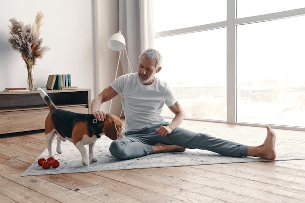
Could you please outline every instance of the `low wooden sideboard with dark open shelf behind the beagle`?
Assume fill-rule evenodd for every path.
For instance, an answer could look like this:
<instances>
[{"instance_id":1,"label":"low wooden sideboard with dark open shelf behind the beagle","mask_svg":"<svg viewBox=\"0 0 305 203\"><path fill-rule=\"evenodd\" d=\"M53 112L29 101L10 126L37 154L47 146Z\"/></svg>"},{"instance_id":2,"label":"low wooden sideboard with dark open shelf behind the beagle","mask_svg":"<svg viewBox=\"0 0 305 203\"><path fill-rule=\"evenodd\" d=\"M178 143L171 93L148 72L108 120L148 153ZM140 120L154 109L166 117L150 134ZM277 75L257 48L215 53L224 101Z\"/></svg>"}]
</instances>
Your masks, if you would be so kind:
<instances>
[{"instance_id":1,"label":"low wooden sideboard with dark open shelf behind the beagle","mask_svg":"<svg viewBox=\"0 0 305 203\"><path fill-rule=\"evenodd\" d=\"M91 89L45 90L57 108L88 114ZM44 129L49 108L38 91L0 91L0 134Z\"/></svg>"}]
</instances>

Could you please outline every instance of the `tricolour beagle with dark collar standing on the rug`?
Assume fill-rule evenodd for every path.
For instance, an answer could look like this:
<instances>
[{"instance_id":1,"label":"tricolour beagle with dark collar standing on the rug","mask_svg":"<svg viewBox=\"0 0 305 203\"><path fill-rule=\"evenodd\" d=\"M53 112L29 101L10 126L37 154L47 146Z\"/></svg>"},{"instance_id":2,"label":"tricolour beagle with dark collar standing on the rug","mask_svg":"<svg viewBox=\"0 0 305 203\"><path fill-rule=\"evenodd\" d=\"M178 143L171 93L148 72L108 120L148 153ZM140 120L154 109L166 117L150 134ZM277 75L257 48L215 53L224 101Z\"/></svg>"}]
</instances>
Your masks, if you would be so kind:
<instances>
[{"instance_id":1,"label":"tricolour beagle with dark collar standing on the rug","mask_svg":"<svg viewBox=\"0 0 305 203\"><path fill-rule=\"evenodd\" d=\"M45 91L38 88L38 92L50 109L44 124L49 157L56 158L52 151L52 140L56 134L56 151L60 154L61 141L69 140L79 150L81 163L85 166L89 166L89 162L96 162L93 150L97 138L104 134L116 140L122 139L127 134L121 120L114 114L107 114L104 121L98 121L91 114L78 114L57 109ZM89 157L84 145L89 145Z\"/></svg>"}]
</instances>

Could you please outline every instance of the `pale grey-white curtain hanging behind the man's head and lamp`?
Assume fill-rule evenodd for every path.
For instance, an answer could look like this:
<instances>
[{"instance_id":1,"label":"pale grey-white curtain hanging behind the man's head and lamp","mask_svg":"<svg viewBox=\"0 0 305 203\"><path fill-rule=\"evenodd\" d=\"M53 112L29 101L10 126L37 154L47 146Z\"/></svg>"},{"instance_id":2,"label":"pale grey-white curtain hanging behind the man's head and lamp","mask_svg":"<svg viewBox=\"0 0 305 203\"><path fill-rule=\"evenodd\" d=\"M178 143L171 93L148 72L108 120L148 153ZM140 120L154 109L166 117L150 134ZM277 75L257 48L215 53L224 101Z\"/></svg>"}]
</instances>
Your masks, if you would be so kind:
<instances>
[{"instance_id":1,"label":"pale grey-white curtain hanging behind the man's head and lamp","mask_svg":"<svg viewBox=\"0 0 305 203\"><path fill-rule=\"evenodd\" d=\"M125 37L126 50L133 72L138 69L139 55L153 47L152 0L119 0L119 31ZM127 73L127 58L121 57ZM130 71L129 71L130 72Z\"/></svg>"}]
</instances>

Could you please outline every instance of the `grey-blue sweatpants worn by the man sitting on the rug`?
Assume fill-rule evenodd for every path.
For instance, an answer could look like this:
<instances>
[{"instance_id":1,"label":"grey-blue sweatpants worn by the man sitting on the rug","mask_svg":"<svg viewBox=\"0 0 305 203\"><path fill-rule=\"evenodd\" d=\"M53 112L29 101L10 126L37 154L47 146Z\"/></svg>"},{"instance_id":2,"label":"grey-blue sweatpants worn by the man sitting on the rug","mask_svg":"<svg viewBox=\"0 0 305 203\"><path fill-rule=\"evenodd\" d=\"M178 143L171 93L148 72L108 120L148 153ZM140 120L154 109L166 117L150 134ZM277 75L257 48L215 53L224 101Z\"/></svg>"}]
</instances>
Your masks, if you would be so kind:
<instances>
[{"instance_id":1,"label":"grey-blue sweatpants worn by the man sitting on the rug","mask_svg":"<svg viewBox=\"0 0 305 203\"><path fill-rule=\"evenodd\" d=\"M152 145L161 142L189 149L209 150L226 156L247 156L248 146L246 145L207 134L195 133L180 127L174 129L171 134L165 137L161 137L154 132L161 125L167 126L168 124L168 122L165 122L138 131L129 131L123 139L113 141L109 150L116 158L131 159L152 154Z\"/></svg>"}]
</instances>

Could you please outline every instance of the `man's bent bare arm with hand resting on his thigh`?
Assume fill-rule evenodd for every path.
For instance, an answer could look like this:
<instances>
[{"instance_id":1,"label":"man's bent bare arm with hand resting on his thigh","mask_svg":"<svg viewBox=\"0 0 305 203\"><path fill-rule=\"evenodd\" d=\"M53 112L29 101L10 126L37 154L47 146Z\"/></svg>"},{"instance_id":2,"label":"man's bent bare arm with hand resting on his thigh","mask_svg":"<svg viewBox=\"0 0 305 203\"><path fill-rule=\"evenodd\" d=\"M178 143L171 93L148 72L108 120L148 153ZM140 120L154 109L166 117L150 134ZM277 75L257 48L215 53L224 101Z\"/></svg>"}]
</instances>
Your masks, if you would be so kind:
<instances>
[{"instance_id":1,"label":"man's bent bare arm with hand resting on his thigh","mask_svg":"<svg viewBox=\"0 0 305 203\"><path fill-rule=\"evenodd\" d=\"M172 131L178 127L183 119L185 118L185 113L178 101L172 106L169 107L172 113L175 114L172 122L168 126L160 126L155 132L160 136L165 137L167 134L171 134Z\"/></svg>"}]
</instances>

